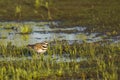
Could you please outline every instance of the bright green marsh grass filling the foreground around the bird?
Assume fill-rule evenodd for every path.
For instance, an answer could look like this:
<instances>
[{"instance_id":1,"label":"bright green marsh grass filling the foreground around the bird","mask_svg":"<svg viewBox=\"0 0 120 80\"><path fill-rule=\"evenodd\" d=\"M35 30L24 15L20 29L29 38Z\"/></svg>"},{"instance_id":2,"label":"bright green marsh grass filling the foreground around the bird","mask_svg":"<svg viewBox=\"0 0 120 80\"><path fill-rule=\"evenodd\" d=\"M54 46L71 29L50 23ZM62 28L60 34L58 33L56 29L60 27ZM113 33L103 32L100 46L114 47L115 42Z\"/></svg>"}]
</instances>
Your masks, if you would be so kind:
<instances>
[{"instance_id":1,"label":"bright green marsh grass filling the foreground around the bird","mask_svg":"<svg viewBox=\"0 0 120 80\"><path fill-rule=\"evenodd\" d=\"M51 43L46 52L49 55L44 59L44 54L36 55L26 47L15 47L10 43L0 45L0 54L3 58L27 57L32 59L0 61L0 79L2 80L46 80L46 79L104 79L118 80L120 75L120 47L101 45L99 43L72 44L67 42ZM81 62L56 62L52 54L62 56L70 54L70 58L87 58Z\"/></svg>"}]
</instances>

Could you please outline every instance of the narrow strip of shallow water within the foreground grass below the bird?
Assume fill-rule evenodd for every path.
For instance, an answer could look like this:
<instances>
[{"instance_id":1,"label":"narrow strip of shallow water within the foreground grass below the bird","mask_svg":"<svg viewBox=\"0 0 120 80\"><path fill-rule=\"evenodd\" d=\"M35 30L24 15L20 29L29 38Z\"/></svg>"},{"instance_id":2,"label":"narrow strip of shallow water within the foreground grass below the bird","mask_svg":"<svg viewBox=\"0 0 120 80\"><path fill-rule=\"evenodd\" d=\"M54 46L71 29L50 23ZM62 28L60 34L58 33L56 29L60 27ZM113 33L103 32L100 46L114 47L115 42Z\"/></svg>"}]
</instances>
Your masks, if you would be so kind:
<instances>
[{"instance_id":1,"label":"narrow strip of shallow water within the foreground grass below the bird","mask_svg":"<svg viewBox=\"0 0 120 80\"><path fill-rule=\"evenodd\" d=\"M51 61L51 62L56 62L56 63L61 63L61 62L80 62L80 61L85 61L87 60L86 58L69 58L65 56L60 56L60 55L42 55L42 56L36 56L35 58L32 56L27 56L27 57L0 57L0 61L24 61L24 60L34 60L34 59L41 59L43 61Z\"/></svg>"}]
</instances>

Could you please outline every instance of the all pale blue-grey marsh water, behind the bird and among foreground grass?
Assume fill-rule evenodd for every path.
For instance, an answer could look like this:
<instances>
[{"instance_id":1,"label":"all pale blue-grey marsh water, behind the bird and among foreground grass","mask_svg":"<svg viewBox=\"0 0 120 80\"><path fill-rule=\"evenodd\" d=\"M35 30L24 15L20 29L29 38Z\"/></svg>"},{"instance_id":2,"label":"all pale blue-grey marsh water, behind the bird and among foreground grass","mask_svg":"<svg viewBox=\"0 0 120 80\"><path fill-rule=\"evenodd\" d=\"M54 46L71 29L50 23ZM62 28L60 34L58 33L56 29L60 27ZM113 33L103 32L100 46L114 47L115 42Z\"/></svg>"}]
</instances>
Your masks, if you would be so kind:
<instances>
[{"instance_id":1,"label":"all pale blue-grey marsh water, behind the bird and among foreground grass","mask_svg":"<svg viewBox=\"0 0 120 80\"><path fill-rule=\"evenodd\" d=\"M89 33L86 32L87 27L85 26L73 26L63 27L59 26L61 22L0 22L0 44L7 45L11 42L15 46L26 46L28 44L39 43L43 41L51 42L54 40L66 40L69 44L74 43L92 43L98 41L110 41L112 43L120 42L120 36L107 38L106 34L102 33ZM26 27L25 27L25 26ZM30 32L29 29L31 30ZM27 32L27 33L24 33ZM47 58L47 56L45 56ZM66 57L60 57L57 55L51 56L53 59L59 61L74 61ZM7 60L16 60L16 58L6 58ZM2 61L6 60L1 58ZM20 58L17 60L31 59ZM82 58L76 58L76 61L84 60Z\"/></svg>"}]
</instances>

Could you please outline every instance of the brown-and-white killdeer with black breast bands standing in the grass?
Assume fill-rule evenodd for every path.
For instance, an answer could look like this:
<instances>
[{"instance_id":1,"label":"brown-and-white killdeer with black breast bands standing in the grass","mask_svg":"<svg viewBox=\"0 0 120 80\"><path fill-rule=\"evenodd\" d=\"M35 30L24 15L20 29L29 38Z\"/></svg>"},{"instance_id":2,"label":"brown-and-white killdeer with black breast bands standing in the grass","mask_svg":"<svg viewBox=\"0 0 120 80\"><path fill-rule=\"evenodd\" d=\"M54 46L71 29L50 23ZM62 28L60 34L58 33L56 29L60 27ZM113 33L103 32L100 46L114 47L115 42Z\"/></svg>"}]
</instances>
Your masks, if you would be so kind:
<instances>
[{"instance_id":1,"label":"brown-and-white killdeer with black breast bands standing in the grass","mask_svg":"<svg viewBox=\"0 0 120 80\"><path fill-rule=\"evenodd\" d=\"M27 45L28 48L32 48L37 53L45 53L47 51L48 43L36 43L32 45Z\"/></svg>"}]
</instances>

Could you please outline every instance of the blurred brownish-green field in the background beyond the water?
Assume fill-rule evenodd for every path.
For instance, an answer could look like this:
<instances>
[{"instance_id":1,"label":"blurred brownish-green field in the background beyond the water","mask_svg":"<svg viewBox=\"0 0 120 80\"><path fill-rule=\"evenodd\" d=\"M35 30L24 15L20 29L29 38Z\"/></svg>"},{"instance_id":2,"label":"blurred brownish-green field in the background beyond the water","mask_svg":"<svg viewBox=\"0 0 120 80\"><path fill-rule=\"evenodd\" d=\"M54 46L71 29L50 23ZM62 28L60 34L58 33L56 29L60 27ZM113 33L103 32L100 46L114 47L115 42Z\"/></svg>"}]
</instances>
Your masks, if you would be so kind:
<instances>
[{"instance_id":1,"label":"blurred brownish-green field in the background beyond the water","mask_svg":"<svg viewBox=\"0 0 120 80\"><path fill-rule=\"evenodd\" d=\"M0 20L60 20L61 26L86 26L89 32L120 34L120 1L116 0L1 0ZM41 2L42 4L41 5ZM49 10L46 7L49 4ZM7 5L7 6L6 6ZM15 16L16 6L20 16ZM37 9L36 9L36 6ZM27 13L27 14L26 14Z\"/></svg>"}]
</instances>

